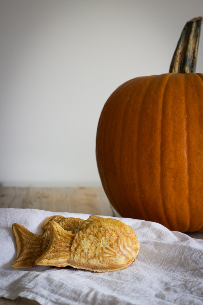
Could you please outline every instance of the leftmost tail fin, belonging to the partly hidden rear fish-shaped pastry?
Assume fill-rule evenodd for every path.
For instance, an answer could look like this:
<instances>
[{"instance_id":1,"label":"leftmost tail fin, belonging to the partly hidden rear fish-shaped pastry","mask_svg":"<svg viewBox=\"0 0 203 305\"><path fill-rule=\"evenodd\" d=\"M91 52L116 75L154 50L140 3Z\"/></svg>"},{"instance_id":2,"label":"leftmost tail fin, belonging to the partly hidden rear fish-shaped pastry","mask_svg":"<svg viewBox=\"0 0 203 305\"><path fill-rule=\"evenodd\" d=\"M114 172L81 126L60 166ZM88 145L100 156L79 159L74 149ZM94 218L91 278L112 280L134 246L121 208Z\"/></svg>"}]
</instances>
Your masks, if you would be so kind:
<instances>
[{"instance_id":1,"label":"leftmost tail fin, belonging to the partly hidden rear fish-shaped pastry","mask_svg":"<svg viewBox=\"0 0 203 305\"><path fill-rule=\"evenodd\" d=\"M11 264L13 269L35 266L35 260L42 254L43 237L28 231L22 224L12 225L16 239L17 255Z\"/></svg>"}]
</instances>

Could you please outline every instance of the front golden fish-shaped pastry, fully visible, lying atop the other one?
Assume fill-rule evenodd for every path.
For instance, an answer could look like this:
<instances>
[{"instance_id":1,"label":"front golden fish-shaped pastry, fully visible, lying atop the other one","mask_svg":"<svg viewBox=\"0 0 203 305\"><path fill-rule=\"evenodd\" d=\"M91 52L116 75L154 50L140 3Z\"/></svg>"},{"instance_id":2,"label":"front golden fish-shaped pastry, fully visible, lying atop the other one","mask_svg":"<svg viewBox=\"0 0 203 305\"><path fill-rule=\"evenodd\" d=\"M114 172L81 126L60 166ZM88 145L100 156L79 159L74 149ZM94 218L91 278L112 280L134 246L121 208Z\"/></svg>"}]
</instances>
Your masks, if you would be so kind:
<instances>
[{"instance_id":1,"label":"front golden fish-shaped pastry, fully visible, lying atop the other one","mask_svg":"<svg viewBox=\"0 0 203 305\"><path fill-rule=\"evenodd\" d=\"M140 244L133 229L122 221L91 215L75 234L49 222L50 241L36 265L116 271L132 264Z\"/></svg>"}]
</instances>

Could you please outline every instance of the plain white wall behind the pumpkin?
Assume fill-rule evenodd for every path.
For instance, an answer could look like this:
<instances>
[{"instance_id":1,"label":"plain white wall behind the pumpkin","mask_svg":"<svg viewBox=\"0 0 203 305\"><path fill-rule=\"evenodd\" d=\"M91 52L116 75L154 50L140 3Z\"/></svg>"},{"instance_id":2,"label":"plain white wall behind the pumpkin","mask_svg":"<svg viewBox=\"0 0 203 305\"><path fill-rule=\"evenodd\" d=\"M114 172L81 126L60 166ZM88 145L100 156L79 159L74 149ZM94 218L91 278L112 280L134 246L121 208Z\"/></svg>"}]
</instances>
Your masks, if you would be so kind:
<instances>
[{"instance_id":1,"label":"plain white wall behind the pumpkin","mask_svg":"<svg viewBox=\"0 0 203 305\"><path fill-rule=\"evenodd\" d=\"M0 183L100 185L109 95L169 71L202 0L0 0ZM196 72L203 73L203 29Z\"/></svg>"}]
</instances>

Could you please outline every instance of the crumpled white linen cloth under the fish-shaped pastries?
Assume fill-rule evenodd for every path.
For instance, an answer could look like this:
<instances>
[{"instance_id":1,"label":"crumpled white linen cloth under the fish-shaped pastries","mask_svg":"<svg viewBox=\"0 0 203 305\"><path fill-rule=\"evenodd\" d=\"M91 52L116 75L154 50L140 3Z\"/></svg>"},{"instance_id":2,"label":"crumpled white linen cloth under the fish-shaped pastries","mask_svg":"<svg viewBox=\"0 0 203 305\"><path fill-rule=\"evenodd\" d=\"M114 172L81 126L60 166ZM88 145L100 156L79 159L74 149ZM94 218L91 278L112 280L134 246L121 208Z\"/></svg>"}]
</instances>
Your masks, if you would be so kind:
<instances>
[{"instance_id":1,"label":"crumpled white linen cloth under the fish-shaped pastries","mask_svg":"<svg viewBox=\"0 0 203 305\"><path fill-rule=\"evenodd\" d=\"M203 304L203 240L155 222L109 217L130 225L138 235L140 251L127 268L105 273L72 267L12 269L16 257L13 223L41 235L41 225L52 215L87 219L89 214L35 209L0 209L0 213L2 297L21 296L44 305Z\"/></svg>"}]
</instances>

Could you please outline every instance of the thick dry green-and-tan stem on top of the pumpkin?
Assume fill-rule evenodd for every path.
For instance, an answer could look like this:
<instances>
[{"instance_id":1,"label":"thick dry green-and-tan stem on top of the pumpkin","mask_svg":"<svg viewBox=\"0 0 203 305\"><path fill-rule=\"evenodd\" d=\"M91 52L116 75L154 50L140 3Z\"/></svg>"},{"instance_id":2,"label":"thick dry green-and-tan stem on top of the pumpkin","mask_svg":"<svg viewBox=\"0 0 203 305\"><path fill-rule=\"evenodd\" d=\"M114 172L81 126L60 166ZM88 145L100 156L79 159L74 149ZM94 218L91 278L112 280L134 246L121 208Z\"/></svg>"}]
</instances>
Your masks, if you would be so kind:
<instances>
[{"instance_id":1,"label":"thick dry green-and-tan stem on top of the pumpkin","mask_svg":"<svg viewBox=\"0 0 203 305\"><path fill-rule=\"evenodd\" d=\"M201 24L203 17L188 21L180 35L170 73L195 73Z\"/></svg>"}]
</instances>

